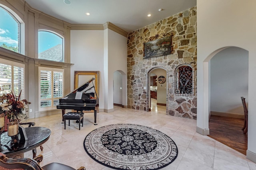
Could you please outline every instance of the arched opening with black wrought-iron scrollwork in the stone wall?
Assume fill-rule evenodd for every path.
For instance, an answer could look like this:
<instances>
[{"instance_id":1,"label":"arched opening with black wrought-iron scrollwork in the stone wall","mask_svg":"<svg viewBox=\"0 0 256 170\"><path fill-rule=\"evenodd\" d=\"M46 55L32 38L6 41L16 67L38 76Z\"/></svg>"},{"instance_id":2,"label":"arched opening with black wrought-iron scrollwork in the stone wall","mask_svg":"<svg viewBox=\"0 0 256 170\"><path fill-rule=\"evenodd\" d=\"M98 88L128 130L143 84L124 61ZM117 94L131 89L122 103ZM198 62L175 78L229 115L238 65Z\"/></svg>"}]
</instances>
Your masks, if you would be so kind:
<instances>
[{"instance_id":1,"label":"arched opening with black wrought-iron scrollwork in the stone wall","mask_svg":"<svg viewBox=\"0 0 256 170\"><path fill-rule=\"evenodd\" d=\"M176 75L176 94L192 94L193 69L189 65L180 65L175 70Z\"/></svg>"}]
</instances>

